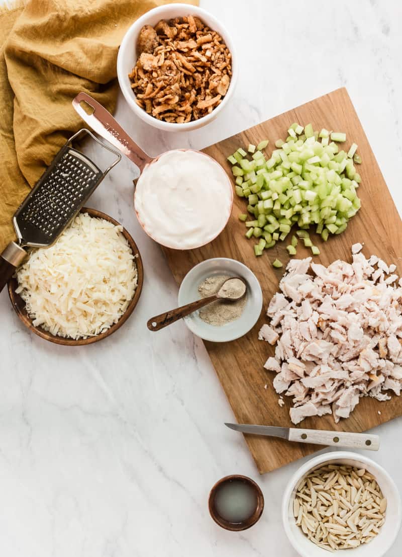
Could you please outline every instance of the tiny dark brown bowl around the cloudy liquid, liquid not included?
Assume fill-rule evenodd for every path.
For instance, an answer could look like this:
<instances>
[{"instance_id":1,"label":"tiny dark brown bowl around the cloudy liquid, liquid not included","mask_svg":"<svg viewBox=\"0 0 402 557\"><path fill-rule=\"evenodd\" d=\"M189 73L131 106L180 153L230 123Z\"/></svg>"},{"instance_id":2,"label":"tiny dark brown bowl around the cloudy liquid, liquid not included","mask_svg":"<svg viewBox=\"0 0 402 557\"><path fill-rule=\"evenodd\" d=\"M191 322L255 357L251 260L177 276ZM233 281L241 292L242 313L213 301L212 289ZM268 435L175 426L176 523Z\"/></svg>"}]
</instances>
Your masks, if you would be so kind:
<instances>
[{"instance_id":1,"label":"tiny dark brown bowl around the cloudy liquid, liquid not included","mask_svg":"<svg viewBox=\"0 0 402 557\"><path fill-rule=\"evenodd\" d=\"M222 486L222 484L226 482L232 482L235 480L244 482L250 487L252 487L256 495L256 506L254 512L242 522L230 522L229 520L225 520L217 512L215 506L215 496L219 488ZM260 487L255 483L254 480L251 480L251 478L247 476L240 476L235 474L232 476L225 476L224 478L221 478L221 480L215 483L214 487L212 487L210 491L208 506L209 506L210 515L212 519L216 522L216 524L218 524L222 528L225 528L225 530L230 530L232 532L239 532L241 530L247 530L247 528L254 526L254 524L260 519L260 516L262 515L262 511L264 510L264 495L262 495L262 491Z\"/></svg>"}]
</instances>

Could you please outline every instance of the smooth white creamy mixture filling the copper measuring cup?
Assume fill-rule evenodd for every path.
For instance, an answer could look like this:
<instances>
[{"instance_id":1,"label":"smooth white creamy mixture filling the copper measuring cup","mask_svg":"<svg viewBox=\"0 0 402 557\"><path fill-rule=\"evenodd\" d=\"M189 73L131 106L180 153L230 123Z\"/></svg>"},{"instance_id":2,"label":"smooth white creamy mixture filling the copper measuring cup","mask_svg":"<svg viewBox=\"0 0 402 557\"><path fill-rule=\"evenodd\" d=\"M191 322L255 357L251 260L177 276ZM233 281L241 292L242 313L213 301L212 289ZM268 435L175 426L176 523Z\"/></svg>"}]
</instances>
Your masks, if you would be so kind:
<instances>
[{"instance_id":1,"label":"smooth white creamy mixture filling the copper measuring cup","mask_svg":"<svg viewBox=\"0 0 402 557\"><path fill-rule=\"evenodd\" d=\"M195 151L169 151L138 179L135 206L146 232L163 246L202 246L225 227L232 206L225 170Z\"/></svg>"}]
</instances>

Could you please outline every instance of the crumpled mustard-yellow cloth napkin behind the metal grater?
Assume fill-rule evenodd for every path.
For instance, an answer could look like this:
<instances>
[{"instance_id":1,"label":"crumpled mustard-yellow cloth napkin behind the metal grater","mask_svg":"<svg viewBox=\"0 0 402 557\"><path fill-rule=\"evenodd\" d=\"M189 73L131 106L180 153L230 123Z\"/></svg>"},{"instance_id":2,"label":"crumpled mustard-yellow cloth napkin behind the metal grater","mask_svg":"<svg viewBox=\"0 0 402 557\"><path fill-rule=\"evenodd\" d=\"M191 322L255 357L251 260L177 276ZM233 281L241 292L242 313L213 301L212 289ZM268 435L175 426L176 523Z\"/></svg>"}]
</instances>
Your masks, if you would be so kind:
<instances>
[{"instance_id":1,"label":"crumpled mustard-yellow cloth napkin behind the metal grater","mask_svg":"<svg viewBox=\"0 0 402 557\"><path fill-rule=\"evenodd\" d=\"M0 252L15 236L19 203L82 127L73 97L86 91L113 111L124 33L170 1L28 0L0 8Z\"/></svg>"}]
</instances>

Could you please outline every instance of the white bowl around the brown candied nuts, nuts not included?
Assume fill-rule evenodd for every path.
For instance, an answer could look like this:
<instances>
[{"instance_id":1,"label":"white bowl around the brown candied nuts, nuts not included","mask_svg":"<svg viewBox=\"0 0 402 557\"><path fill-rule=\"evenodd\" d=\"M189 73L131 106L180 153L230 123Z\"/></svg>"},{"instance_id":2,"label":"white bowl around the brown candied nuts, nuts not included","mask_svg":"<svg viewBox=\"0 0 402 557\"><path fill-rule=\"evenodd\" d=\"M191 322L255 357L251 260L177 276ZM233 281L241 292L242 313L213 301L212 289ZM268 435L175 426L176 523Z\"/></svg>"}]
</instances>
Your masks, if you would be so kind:
<instances>
[{"instance_id":1,"label":"white bowl around the brown candied nuts, nuts not included","mask_svg":"<svg viewBox=\"0 0 402 557\"><path fill-rule=\"evenodd\" d=\"M229 89L226 92L224 100L218 105L210 114L203 116L198 120L193 120L185 124L174 124L170 122L164 122L162 120L157 120L153 118L150 114L147 114L140 106L137 105L135 101L135 95L131 89L130 79L128 79L128 74L132 71L133 67L137 61L137 37L140 33L141 27L144 25L156 25L160 19L171 19L179 16L187 15L198 16L208 27L212 30L217 31L221 37L224 39L226 46L229 48L232 55L232 78L230 80ZM225 108L228 104L230 97L235 89L237 74L239 70L237 67L237 56L235 53L234 43L227 32L226 28L220 23L211 13L205 11L205 9L198 8L197 6L190 6L190 4L166 4L166 6L160 6L158 8L153 8L149 12L143 14L135 21L131 27L128 28L126 35L120 45L117 56L117 77L120 85L120 89L125 96L125 99L130 106L133 113L139 116L143 121L155 128L159 128L165 131L189 131L196 128L201 128L205 126L210 121L214 120L216 116Z\"/></svg>"}]
</instances>

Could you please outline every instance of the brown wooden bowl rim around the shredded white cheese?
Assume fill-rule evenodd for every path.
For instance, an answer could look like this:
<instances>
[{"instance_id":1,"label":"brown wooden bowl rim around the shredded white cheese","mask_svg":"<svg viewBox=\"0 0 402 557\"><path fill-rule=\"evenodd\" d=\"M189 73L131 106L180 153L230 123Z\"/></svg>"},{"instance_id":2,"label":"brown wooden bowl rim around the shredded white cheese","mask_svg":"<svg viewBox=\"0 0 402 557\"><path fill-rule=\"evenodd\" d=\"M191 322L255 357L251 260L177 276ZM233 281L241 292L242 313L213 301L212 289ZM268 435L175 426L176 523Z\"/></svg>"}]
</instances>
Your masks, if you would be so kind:
<instances>
[{"instance_id":1,"label":"brown wooden bowl rim around the shredded white cheese","mask_svg":"<svg viewBox=\"0 0 402 557\"><path fill-rule=\"evenodd\" d=\"M116 226L118 224L120 224L117 221L115 221L114 218L109 217L105 213L101 213L101 211L96 211L96 209L88 209L86 207L83 207L81 209L81 213L88 213L91 217L103 218L103 219L105 219L105 221L109 221L109 222L112 222L113 224L116 224ZM84 344L97 343L99 340L106 339L107 336L110 336L111 334L115 333L115 331L117 331L117 329L120 329L120 327L123 325L123 323L125 323L125 321L127 321L128 317L130 317L130 315L132 314L135 306L137 305L138 299L140 298L140 295L141 295L142 283L143 283L143 266L142 266L142 260L141 260L140 252L138 251L138 248L137 248L137 245L136 245L135 241L132 239L132 237L130 236L130 234L127 232L127 230L125 228L123 228L122 234L126 238L126 240L128 242L128 245L131 247L133 255L136 256L135 263L136 263L136 266L137 266L137 288L134 292L134 296L132 297L132 300L131 300L130 304L128 305L125 313L120 317L120 319L117 321L117 323L113 324L104 333L101 333L101 334L96 335L96 336L88 336L88 338L86 338L86 339L75 340L75 339L70 339L70 338L64 338L62 336L52 335L48 331L45 331L44 329L42 329L42 327L40 327L40 326L35 327L32 324L32 319L27 314L27 310L25 308L25 302L23 301L21 296L19 296L19 294L16 294L16 289L17 289L17 286L18 286L18 282L17 282L17 279L15 277L13 277L13 278L11 278L11 280L8 281L8 285L7 285L8 286L8 294L9 294L11 303L13 305L13 308L14 308L14 310L16 310L16 313L17 313L19 319L21 319L22 323L24 325L26 325L28 327L28 329L30 329L33 333L35 333L38 336L41 336L42 339L49 340L51 343L64 344L64 345L67 345L67 346L82 346Z\"/></svg>"}]
</instances>

